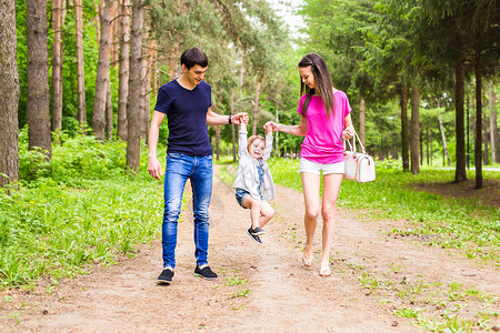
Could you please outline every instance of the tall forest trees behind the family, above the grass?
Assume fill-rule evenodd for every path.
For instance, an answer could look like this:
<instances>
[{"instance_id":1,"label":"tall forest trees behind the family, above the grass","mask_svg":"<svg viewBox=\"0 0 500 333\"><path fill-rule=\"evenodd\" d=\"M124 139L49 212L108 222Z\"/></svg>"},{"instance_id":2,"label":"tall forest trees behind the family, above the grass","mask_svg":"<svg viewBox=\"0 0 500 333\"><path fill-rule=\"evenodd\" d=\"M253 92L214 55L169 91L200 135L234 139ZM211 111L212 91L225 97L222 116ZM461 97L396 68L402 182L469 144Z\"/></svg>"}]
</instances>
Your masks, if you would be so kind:
<instances>
[{"instance_id":1,"label":"tall forest trees behind the family, above the grass","mask_svg":"<svg viewBox=\"0 0 500 333\"><path fill-rule=\"evenodd\" d=\"M482 164L500 159L497 1L308 0L300 38L263 0L2 6L1 184L19 179L24 125L29 150L48 161L52 133L84 133L127 142L127 168L137 171L156 93L179 77L179 54L193 46L210 59L214 111L249 112L252 133L271 119L298 123L296 67L312 51L347 92L361 141L379 160L399 159L412 173L423 162L454 165L456 181L473 163L481 188ZM209 133L217 157L236 160L234 129ZM296 155L300 141L282 134L276 154Z\"/></svg>"}]
</instances>

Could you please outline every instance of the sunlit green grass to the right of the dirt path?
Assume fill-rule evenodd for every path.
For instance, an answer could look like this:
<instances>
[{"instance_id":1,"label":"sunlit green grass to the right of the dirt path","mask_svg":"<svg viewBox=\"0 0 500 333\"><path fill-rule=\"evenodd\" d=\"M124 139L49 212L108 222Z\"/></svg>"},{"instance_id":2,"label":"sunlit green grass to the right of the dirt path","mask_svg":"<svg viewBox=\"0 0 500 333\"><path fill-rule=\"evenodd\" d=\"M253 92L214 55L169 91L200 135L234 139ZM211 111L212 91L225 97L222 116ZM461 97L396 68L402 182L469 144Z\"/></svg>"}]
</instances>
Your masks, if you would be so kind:
<instances>
[{"instance_id":1,"label":"sunlit green grass to the right of the dirt path","mask_svg":"<svg viewBox=\"0 0 500 333\"><path fill-rule=\"evenodd\" d=\"M302 190L298 160L271 159L269 165L276 183ZM500 179L500 172L483 175ZM468 176L473 179L473 171ZM402 172L399 163L379 162L374 182L342 182L338 205L358 210L364 219L407 221L403 230L394 229L392 233L426 235L424 244L463 250L468 258L499 265L500 210L497 206L411 189L412 183L453 179L454 170L423 169L420 174L411 174Z\"/></svg>"}]
</instances>

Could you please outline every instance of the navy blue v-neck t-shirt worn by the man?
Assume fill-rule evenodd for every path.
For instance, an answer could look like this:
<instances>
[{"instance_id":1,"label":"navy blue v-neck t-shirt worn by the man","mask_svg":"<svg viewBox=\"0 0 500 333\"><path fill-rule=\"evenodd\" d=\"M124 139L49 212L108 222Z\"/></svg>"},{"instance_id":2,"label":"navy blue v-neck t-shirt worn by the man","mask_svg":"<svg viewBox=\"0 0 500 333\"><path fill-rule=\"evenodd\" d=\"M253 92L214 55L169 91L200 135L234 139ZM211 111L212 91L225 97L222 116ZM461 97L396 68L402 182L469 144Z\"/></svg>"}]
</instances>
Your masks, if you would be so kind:
<instances>
[{"instance_id":1,"label":"navy blue v-neck t-shirt worn by the man","mask_svg":"<svg viewBox=\"0 0 500 333\"><path fill-rule=\"evenodd\" d=\"M167 152L191 157L212 154L207 128L207 112L212 105L211 93L212 88L204 81L193 90L181 87L177 80L160 88L154 110L167 114Z\"/></svg>"}]
</instances>

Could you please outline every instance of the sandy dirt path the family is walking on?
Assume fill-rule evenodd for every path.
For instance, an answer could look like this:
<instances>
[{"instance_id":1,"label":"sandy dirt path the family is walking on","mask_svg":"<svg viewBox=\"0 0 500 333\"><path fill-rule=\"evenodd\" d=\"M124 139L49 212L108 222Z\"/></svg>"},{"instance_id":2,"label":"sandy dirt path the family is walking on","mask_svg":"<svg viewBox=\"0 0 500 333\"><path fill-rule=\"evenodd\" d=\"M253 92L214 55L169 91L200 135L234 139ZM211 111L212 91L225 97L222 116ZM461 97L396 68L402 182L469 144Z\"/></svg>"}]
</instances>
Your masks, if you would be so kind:
<instances>
[{"instance_id":1,"label":"sandy dirt path the family is walking on","mask_svg":"<svg viewBox=\"0 0 500 333\"><path fill-rule=\"evenodd\" d=\"M161 271L157 241L133 259L61 282L52 295L12 294L13 302L2 305L0 331L422 332L392 311L421 304L439 312L432 295L450 282L461 285L459 291L474 287L500 295L494 266L390 235L404 222L363 222L343 210L332 255L334 274L320 278L319 252L312 268L300 262L302 194L279 188L272 203L277 216L259 246L246 234L248 211L239 208L232 189L216 180L209 252L220 276L216 282L192 274L192 223L184 218L171 285L156 283ZM320 228L317 232L319 249ZM429 285L429 293L411 294L410 286L419 283ZM498 312L498 303L492 307ZM498 317L491 325L498 325Z\"/></svg>"}]
</instances>

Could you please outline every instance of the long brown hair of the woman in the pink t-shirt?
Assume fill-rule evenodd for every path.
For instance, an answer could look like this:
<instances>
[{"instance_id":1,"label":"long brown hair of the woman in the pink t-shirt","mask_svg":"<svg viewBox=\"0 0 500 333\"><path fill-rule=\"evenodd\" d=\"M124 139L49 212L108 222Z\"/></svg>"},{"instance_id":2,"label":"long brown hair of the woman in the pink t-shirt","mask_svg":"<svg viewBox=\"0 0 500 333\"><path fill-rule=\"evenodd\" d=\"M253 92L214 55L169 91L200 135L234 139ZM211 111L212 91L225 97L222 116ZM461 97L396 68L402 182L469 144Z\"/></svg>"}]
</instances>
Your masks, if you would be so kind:
<instances>
[{"instance_id":1,"label":"long brown hair of the woman in the pink t-shirt","mask_svg":"<svg viewBox=\"0 0 500 333\"><path fill-rule=\"evenodd\" d=\"M333 83L331 81L330 71L328 70L328 65L324 62L323 58L321 58L317 53L308 53L302 58L299 62L299 67L311 67L312 74L314 75L316 85L318 87L318 93L323 100L324 111L327 112L328 118L330 114L334 114L334 97L333 97ZM300 94L312 93L314 94L314 89L309 89L302 80L300 80ZM308 105L306 105L307 109ZM307 110L304 110L304 105L302 104L302 114L306 115Z\"/></svg>"}]
</instances>

